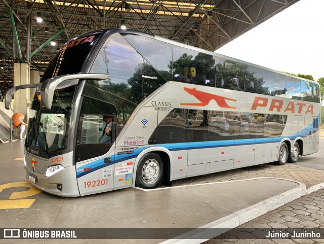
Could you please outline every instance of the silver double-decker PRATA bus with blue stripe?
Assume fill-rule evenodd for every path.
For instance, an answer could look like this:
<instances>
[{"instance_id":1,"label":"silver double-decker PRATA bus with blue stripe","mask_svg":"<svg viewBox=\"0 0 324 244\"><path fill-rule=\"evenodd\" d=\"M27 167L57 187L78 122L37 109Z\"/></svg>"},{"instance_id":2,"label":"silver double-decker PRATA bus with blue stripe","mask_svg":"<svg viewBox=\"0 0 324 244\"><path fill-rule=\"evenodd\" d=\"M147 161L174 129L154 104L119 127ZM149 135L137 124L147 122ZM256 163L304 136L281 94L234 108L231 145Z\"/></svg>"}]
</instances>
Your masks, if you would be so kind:
<instances>
[{"instance_id":1,"label":"silver double-decker PRATA bus with blue stripe","mask_svg":"<svg viewBox=\"0 0 324 244\"><path fill-rule=\"evenodd\" d=\"M30 87L26 178L54 195L152 189L318 151L318 83L132 29L67 42L6 107Z\"/></svg>"}]
</instances>

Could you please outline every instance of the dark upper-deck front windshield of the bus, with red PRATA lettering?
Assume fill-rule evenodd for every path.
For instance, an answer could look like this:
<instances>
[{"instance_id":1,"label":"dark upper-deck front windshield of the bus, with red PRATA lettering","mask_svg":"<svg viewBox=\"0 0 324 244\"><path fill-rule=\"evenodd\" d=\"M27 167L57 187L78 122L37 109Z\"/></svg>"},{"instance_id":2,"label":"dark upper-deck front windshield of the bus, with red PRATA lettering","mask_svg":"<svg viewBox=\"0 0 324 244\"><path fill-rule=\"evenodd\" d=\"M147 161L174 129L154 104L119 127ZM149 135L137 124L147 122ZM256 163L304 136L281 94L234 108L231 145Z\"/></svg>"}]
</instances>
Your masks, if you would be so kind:
<instances>
[{"instance_id":1,"label":"dark upper-deck front windshield of the bus, with red PRATA lettering","mask_svg":"<svg viewBox=\"0 0 324 244\"><path fill-rule=\"evenodd\" d=\"M52 77L80 72L99 35L100 33L92 34L65 44L46 68L41 82Z\"/></svg>"}]
</instances>

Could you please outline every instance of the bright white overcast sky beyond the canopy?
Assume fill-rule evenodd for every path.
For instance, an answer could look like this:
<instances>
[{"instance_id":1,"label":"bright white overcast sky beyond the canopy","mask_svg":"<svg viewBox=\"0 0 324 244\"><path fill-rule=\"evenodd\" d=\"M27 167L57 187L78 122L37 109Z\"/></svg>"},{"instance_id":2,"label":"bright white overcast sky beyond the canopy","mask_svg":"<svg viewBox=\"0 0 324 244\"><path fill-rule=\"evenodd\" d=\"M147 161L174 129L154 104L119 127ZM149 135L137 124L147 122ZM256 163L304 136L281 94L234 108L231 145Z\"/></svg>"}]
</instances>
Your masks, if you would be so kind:
<instances>
[{"instance_id":1,"label":"bright white overcast sky beyond the canopy","mask_svg":"<svg viewBox=\"0 0 324 244\"><path fill-rule=\"evenodd\" d=\"M317 81L324 77L323 13L323 0L299 0L215 52Z\"/></svg>"}]
</instances>

